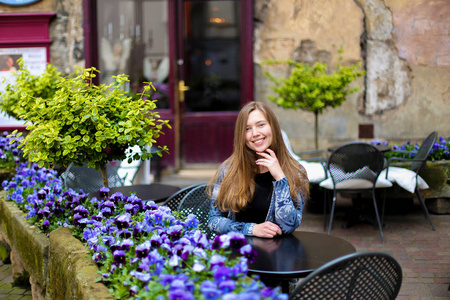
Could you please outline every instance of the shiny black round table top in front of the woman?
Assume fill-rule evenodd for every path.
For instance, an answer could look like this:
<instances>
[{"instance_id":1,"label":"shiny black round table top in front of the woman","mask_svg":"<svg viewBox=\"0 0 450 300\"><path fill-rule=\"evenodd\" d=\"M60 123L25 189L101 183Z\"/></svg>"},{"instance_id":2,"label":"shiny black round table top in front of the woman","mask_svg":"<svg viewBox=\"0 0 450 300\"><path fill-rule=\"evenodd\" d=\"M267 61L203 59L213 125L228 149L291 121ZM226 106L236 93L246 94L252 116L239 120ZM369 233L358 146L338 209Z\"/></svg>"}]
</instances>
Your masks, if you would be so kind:
<instances>
[{"instance_id":1,"label":"shiny black round table top in front of the woman","mask_svg":"<svg viewBox=\"0 0 450 300\"><path fill-rule=\"evenodd\" d=\"M324 233L295 231L265 239L247 237L258 253L248 264L250 273L265 278L305 277L318 267L338 257L356 252L348 241Z\"/></svg>"}]
</instances>

